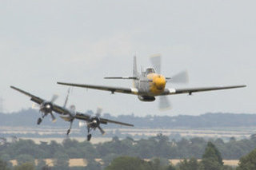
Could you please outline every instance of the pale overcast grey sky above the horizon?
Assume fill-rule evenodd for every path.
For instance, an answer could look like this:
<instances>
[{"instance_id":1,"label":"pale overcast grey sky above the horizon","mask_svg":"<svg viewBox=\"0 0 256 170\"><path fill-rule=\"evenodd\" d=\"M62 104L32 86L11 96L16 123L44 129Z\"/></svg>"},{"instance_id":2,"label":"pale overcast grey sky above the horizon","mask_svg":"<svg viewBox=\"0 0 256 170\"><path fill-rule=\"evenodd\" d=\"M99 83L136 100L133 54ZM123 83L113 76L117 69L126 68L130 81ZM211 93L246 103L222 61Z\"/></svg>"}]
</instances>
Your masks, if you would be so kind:
<instances>
[{"instance_id":1,"label":"pale overcast grey sky above the horizon","mask_svg":"<svg viewBox=\"0 0 256 170\"><path fill-rule=\"evenodd\" d=\"M162 53L162 73L187 69L182 87L240 85L193 96L170 96L173 109L158 111L158 101L136 96L73 88L70 103L79 111L178 115L256 113L256 2L216 1L1 1L0 97L5 112L30 108L15 85L50 99L66 96L56 81L130 87L131 81L104 80L130 76L134 53L138 68ZM167 87L181 85L168 84Z\"/></svg>"}]
</instances>

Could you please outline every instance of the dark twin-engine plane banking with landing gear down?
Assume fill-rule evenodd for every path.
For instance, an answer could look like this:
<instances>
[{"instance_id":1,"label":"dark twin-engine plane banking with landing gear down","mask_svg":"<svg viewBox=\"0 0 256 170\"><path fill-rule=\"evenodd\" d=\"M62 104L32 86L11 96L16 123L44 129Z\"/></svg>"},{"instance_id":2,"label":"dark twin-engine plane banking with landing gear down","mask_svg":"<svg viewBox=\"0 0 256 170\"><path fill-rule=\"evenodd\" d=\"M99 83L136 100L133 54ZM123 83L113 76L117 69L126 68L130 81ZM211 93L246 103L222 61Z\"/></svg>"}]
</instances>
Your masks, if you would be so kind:
<instances>
[{"instance_id":1,"label":"dark twin-engine plane banking with landing gear down","mask_svg":"<svg viewBox=\"0 0 256 170\"><path fill-rule=\"evenodd\" d=\"M118 125L126 125L126 126L134 126L130 124L126 124L120 121L112 121L109 119L104 119L100 117L101 109L98 109L97 113L95 116L90 116L84 113L79 113L75 110L74 105L70 105L70 109L66 109L66 103L68 100L68 96L66 97L66 101L63 106L55 105L54 101L57 99L57 96L54 96L51 101L46 101L40 97L34 96L33 94L27 93L22 89L18 89L14 86L10 86L10 88L17 90L20 93L25 94L28 97L31 97L30 100L34 101L36 104L39 105L39 112L42 113L42 118L38 118L38 125L42 122L42 119L46 117L48 114L51 115L53 121L56 121L56 118L54 117L54 113L60 114L61 118L64 121L69 121L70 122L70 128L67 130L66 134L69 135L70 130L72 128L72 124L74 119L78 119L81 121L86 121L86 128L87 128L87 140L90 140L91 138L91 130L95 130L98 128L100 132L102 132L102 135L105 133L105 131L101 128L100 124L108 124L108 123L113 123L113 124L118 124Z\"/></svg>"}]
</instances>

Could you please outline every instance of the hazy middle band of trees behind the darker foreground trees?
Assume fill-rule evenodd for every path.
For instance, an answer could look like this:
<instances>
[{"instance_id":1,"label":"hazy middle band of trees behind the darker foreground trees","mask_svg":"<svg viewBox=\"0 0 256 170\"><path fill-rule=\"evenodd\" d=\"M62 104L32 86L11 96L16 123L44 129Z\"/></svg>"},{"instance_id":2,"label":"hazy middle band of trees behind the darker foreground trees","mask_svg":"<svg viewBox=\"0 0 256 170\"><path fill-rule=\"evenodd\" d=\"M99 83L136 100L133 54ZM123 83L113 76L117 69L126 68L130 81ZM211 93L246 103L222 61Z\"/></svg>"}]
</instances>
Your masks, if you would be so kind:
<instances>
[{"instance_id":1,"label":"hazy middle band of trees behind the darker foreground trees","mask_svg":"<svg viewBox=\"0 0 256 170\"><path fill-rule=\"evenodd\" d=\"M0 159L9 161L17 160L18 164L34 162L44 165L44 159L53 159L55 164L65 164L63 169L67 168L67 161L71 158L82 158L89 162L87 167L106 167L112 160L119 156L139 157L140 159L154 159L155 157L169 159L202 159L207 143L211 142L218 148L219 155L226 160L237 160L256 148L256 138L251 136L248 140L235 140L230 138L229 142L223 142L222 139L204 140L194 137L190 140L169 140L167 136L158 134L158 136L148 139L134 140L126 137L119 140L114 137L109 142L100 144L91 144L90 142L63 140L58 144L52 140L49 144L41 142L35 144L33 140L14 140L0 145ZM96 158L102 159L103 165L95 161ZM185 163L184 163L185 164ZM60 166L59 165L59 166ZM97 168L96 168L97 169Z\"/></svg>"}]
</instances>

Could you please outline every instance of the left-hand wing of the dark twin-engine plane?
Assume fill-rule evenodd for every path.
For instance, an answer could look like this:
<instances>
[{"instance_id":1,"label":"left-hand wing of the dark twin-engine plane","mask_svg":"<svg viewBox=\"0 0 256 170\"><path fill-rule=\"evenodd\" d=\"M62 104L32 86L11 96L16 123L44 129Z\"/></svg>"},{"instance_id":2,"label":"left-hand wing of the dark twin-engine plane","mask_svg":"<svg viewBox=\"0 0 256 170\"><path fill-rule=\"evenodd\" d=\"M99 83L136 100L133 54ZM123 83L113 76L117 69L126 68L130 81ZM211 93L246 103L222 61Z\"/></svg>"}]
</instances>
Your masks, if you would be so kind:
<instances>
[{"instance_id":1,"label":"left-hand wing of the dark twin-engine plane","mask_svg":"<svg viewBox=\"0 0 256 170\"><path fill-rule=\"evenodd\" d=\"M14 87L14 86L10 86L10 88L11 89L15 89L18 92L23 93L23 94L25 94L28 97L31 97L30 100L34 101L38 105L41 105L43 102L46 102L46 100L44 100L44 99L42 99L40 97L34 96L33 94L27 93L26 91L24 91L22 89L18 89L18 88ZM62 106L55 105L54 103L52 103L52 105L53 105L53 111L55 113L59 113L59 114L69 114L70 113L68 109L63 108Z\"/></svg>"}]
</instances>

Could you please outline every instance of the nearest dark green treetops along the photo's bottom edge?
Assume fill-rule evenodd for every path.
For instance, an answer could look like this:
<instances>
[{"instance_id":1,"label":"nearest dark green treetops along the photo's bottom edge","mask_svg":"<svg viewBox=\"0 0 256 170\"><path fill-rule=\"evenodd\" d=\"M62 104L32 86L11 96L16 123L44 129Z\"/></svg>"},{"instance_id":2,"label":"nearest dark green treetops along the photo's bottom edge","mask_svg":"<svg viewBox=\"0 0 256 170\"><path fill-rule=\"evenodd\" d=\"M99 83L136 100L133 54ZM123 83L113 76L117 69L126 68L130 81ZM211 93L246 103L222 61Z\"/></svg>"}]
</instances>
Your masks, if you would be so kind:
<instances>
[{"instance_id":1,"label":"nearest dark green treetops along the photo's bottom edge","mask_svg":"<svg viewBox=\"0 0 256 170\"><path fill-rule=\"evenodd\" d=\"M65 170L65 169L90 169L90 170L255 170L256 169L256 149L248 155L240 159L238 167L230 167L223 164L222 155L218 148L212 143L208 142L202 160L198 161L194 157L187 160L186 158L178 164L173 165L166 158L154 158L151 160L142 160L141 158L132 156L118 156L114 158L105 168L100 164L90 160L90 164L86 168L70 168L68 167L66 156L59 155L56 160L56 166L49 167L43 161L35 165L33 160L26 159L26 156L19 161L18 165L13 168L8 166L6 161L0 160L0 170Z\"/></svg>"}]
</instances>

